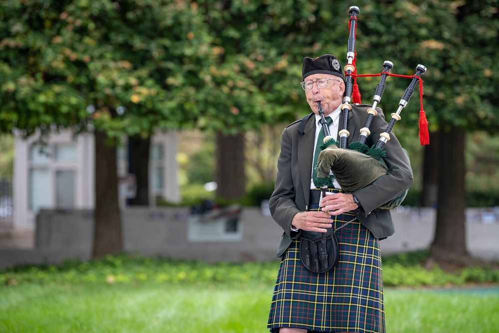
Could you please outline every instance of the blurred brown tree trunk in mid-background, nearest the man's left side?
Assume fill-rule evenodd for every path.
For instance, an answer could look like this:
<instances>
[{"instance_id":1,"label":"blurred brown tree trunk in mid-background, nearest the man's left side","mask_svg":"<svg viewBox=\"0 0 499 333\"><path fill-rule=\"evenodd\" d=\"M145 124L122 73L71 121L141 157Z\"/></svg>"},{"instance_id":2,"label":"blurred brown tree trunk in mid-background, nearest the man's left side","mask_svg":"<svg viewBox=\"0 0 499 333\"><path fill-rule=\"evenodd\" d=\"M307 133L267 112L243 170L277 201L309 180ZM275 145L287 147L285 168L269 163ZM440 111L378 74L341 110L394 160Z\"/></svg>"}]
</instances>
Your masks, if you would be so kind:
<instances>
[{"instance_id":1,"label":"blurred brown tree trunk in mid-background, nearest the man's left side","mask_svg":"<svg viewBox=\"0 0 499 333\"><path fill-rule=\"evenodd\" d=\"M217 198L234 200L245 195L244 133L217 133ZM200 166L202 167L202 166Z\"/></svg>"}]
</instances>

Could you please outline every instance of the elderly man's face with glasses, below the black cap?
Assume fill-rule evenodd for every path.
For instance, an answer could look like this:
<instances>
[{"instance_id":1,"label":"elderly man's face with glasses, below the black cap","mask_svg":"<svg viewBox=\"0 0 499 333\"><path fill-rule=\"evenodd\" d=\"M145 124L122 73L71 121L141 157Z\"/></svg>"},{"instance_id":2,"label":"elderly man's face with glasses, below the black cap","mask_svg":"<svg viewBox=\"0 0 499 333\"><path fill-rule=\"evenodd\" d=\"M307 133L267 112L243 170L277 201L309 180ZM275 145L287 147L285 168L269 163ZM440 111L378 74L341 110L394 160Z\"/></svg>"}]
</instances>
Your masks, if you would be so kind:
<instances>
[{"instance_id":1,"label":"elderly man's face with glasses, below the black cap","mask_svg":"<svg viewBox=\"0 0 499 333\"><path fill-rule=\"evenodd\" d=\"M319 88L317 83L314 82L312 89L305 90L305 96L307 98L307 103L312 109L313 113L319 114L319 107L317 106L317 101L320 101L322 109L324 110L324 116L327 116L338 106L340 106L343 98L343 92L345 91L345 84L343 80L332 74L312 74L305 77L306 81L316 81L318 79L329 79L327 86L325 88ZM333 81L334 80L334 81Z\"/></svg>"}]
</instances>

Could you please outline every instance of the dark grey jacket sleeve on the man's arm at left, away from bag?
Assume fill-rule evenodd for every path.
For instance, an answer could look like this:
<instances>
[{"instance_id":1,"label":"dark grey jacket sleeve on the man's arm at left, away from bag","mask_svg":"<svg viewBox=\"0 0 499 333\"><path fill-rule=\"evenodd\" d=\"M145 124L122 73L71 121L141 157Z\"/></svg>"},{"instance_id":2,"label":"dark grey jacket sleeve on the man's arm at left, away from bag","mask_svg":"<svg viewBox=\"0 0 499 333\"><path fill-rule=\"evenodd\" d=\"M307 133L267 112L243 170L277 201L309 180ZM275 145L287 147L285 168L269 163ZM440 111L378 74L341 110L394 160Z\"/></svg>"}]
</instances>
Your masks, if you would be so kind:
<instances>
[{"instance_id":1,"label":"dark grey jacket sleeve on the man's arm at left, away from bag","mask_svg":"<svg viewBox=\"0 0 499 333\"><path fill-rule=\"evenodd\" d=\"M270 196L269 208L272 218L291 238L297 237L298 232L291 231L291 221L300 212L296 207L295 190L291 174L291 139L287 128L282 132L281 151L277 160L277 176L274 192Z\"/></svg>"}]
</instances>

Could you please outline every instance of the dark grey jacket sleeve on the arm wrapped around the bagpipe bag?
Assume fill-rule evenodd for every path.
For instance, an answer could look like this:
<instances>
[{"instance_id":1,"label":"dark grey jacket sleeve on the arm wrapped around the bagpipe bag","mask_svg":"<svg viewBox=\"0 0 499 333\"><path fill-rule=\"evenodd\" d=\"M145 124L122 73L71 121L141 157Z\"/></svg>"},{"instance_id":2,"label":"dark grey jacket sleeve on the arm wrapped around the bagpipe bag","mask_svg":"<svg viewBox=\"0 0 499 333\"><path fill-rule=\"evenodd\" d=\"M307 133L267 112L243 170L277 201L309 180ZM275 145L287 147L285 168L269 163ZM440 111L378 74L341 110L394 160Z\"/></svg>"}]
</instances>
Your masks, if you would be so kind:
<instances>
[{"instance_id":1,"label":"dark grey jacket sleeve on the arm wrapped around the bagpipe bag","mask_svg":"<svg viewBox=\"0 0 499 333\"><path fill-rule=\"evenodd\" d=\"M385 131L388 125L385 121L383 111L380 108L377 109L378 115L373 118L370 128L370 139L374 141L374 144L377 143L379 135ZM381 176L371 185L353 192L359 200L365 216L397 197L413 183L413 173L409 158L393 133L390 133L390 140L386 143L385 150L386 157L384 160L388 166L386 175Z\"/></svg>"}]
</instances>

